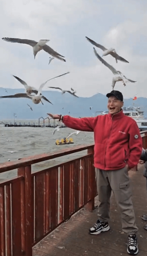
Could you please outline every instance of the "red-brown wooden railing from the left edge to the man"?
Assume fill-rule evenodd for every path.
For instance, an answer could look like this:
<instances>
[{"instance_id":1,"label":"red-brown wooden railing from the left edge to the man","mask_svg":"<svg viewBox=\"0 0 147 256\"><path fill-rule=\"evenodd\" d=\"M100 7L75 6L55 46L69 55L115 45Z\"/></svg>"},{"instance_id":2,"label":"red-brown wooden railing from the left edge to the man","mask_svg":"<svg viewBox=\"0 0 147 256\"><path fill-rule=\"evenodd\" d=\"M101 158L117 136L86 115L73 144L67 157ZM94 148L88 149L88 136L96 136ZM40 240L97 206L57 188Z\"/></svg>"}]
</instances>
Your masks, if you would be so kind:
<instances>
[{"instance_id":1,"label":"red-brown wooden railing from the left edge to the man","mask_svg":"<svg viewBox=\"0 0 147 256\"><path fill-rule=\"evenodd\" d=\"M94 209L93 146L70 147L0 164L18 176L0 182L0 255L31 256L32 246L80 208ZM31 173L31 165L87 150L87 154Z\"/></svg>"}]
</instances>

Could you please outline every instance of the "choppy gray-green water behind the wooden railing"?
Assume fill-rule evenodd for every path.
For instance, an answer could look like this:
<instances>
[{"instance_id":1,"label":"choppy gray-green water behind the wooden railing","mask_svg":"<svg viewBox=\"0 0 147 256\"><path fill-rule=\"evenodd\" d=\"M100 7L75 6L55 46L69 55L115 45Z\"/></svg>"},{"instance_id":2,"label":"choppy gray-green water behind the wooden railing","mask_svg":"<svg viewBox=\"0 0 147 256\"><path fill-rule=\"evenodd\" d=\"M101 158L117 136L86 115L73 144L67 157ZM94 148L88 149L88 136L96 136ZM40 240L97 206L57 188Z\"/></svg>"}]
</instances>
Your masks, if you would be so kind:
<instances>
[{"instance_id":1,"label":"choppy gray-green water behind the wooden railing","mask_svg":"<svg viewBox=\"0 0 147 256\"><path fill-rule=\"evenodd\" d=\"M4 120L3 120L4 121ZM17 123L20 120L17 120ZM29 120L30 123L34 120ZM29 122L24 120L25 123ZM21 120L22 122L22 120ZM60 149L75 147L77 145L93 143L93 132L80 132L73 134L71 137L74 144L56 145L56 139L67 137L75 130L70 128L61 128L52 135L54 128L49 127L0 127L0 163L18 160L19 158L33 156L42 153L54 152ZM18 151L18 152L7 152ZM50 165L55 165L60 161L67 161L74 157L85 154L86 151L60 157L56 160L49 160ZM43 162L44 164L45 162ZM45 166L45 165L44 165ZM46 165L47 166L47 165ZM42 162L32 166L32 170L41 169ZM13 177L17 174L17 170L0 174L0 179Z\"/></svg>"}]
</instances>

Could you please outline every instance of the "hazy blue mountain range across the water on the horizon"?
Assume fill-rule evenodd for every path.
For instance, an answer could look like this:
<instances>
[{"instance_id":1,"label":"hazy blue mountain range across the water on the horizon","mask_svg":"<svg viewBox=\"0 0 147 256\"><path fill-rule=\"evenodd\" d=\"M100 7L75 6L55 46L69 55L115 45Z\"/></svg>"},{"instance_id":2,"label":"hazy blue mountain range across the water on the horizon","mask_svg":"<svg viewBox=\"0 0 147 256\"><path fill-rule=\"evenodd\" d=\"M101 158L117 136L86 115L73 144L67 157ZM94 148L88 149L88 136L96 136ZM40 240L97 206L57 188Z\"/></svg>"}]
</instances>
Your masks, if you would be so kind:
<instances>
[{"instance_id":1,"label":"hazy blue mountain range across the water on the horizon","mask_svg":"<svg viewBox=\"0 0 147 256\"><path fill-rule=\"evenodd\" d=\"M0 88L0 96L12 95L16 93L24 93L22 89ZM14 113L18 119L38 119L39 117L47 117L47 113L55 113L62 115L70 115L72 117L91 117L96 111L107 110L107 97L103 94L95 94L92 97L76 98L69 93L61 94L58 91L42 91L42 94L51 101L51 105L45 100L35 105L27 98L4 98L0 99L0 120L12 119ZM137 100L124 99L124 106L140 106L144 111L144 116L147 116L147 98L137 98ZM33 111L27 106L29 104ZM90 110L90 107L93 107ZM70 111L70 113L69 113Z\"/></svg>"}]
</instances>

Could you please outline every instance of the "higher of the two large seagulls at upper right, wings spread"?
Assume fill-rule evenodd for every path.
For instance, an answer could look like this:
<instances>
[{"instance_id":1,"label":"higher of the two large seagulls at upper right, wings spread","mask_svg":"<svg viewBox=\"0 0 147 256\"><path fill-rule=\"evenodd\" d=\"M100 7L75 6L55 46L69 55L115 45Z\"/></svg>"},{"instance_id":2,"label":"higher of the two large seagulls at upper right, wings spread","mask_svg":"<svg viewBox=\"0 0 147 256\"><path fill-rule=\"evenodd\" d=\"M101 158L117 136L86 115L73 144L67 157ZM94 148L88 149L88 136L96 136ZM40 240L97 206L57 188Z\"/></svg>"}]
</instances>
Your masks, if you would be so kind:
<instances>
[{"instance_id":1,"label":"higher of the two large seagulls at upper right, wings spread","mask_svg":"<svg viewBox=\"0 0 147 256\"><path fill-rule=\"evenodd\" d=\"M107 49L107 48L105 48L103 45L94 42L94 41L91 40L90 38L88 38L88 37L86 37L86 38L87 38L87 40L88 40L90 43L92 43L93 45L95 45L96 47L98 47L98 48L100 48L100 49L102 49L102 50L104 51L102 57L103 57L103 56L106 56L106 55L108 55L108 54L110 54L112 57L114 57L114 58L116 59L116 63L117 63L117 60L120 60L120 61L129 63L127 60L125 60L124 58L122 58L121 56L119 56L119 55L116 53L116 51L115 51L114 48Z\"/></svg>"}]
</instances>

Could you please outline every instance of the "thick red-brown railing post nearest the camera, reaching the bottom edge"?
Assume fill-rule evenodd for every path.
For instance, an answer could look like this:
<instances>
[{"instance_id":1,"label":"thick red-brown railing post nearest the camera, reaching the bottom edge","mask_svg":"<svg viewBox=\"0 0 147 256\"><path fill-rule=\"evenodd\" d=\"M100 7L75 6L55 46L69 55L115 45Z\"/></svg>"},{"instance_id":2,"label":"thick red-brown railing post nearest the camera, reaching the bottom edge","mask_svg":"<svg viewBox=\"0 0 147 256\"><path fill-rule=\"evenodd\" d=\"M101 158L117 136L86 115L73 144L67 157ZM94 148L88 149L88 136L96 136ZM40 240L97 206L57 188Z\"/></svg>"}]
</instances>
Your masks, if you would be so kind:
<instances>
[{"instance_id":1,"label":"thick red-brown railing post nearest the camera, reaching the bottom edge","mask_svg":"<svg viewBox=\"0 0 147 256\"><path fill-rule=\"evenodd\" d=\"M25 168L18 168L18 175L22 175L25 178L25 191L24 196L25 202L23 205L23 218L25 219L25 226L22 227L23 235L23 244L22 249L25 249L25 256L32 256L32 187L31 187L31 165L26 166ZM25 247L25 248L23 248Z\"/></svg>"}]
</instances>

